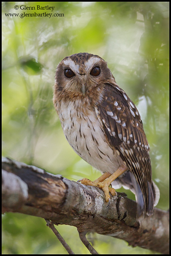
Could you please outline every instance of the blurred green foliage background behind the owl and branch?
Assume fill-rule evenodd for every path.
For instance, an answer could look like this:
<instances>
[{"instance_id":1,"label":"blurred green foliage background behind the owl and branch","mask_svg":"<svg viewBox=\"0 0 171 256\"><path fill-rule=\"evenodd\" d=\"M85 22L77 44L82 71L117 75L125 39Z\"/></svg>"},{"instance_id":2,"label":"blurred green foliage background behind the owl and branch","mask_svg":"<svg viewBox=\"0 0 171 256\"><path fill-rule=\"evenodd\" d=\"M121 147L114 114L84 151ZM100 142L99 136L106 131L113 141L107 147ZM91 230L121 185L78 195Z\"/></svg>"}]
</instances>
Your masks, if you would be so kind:
<instances>
[{"instance_id":1,"label":"blurred green foliage background behind the owl and branch","mask_svg":"<svg viewBox=\"0 0 171 256\"><path fill-rule=\"evenodd\" d=\"M21 10L21 5L35 10ZM37 10L37 5L54 10ZM17 13L64 16L7 16ZM160 189L157 207L167 210L168 20L169 2L2 2L3 156L74 181L99 176L65 140L52 103L57 64L74 53L97 54L140 112L153 180ZM7 213L2 223L3 254L67 254L43 219ZM76 228L63 225L58 231L75 254L89 254ZM89 235L89 240L99 254L156 254L98 234Z\"/></svg>"}]
</instances>

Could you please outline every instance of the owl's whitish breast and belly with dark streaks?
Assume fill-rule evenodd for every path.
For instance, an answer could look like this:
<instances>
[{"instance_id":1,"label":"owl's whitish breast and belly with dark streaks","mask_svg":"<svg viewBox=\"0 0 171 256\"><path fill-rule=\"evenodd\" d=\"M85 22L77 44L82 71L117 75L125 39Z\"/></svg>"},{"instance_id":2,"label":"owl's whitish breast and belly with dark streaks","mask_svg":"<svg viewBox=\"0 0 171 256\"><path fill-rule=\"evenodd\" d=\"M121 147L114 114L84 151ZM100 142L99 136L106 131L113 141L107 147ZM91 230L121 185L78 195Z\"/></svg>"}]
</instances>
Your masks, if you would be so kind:
<instances>
[{"instance_id":1,"label":"owl's whitish breast and belly with dark streaks","mask_svg":"<svg viewBox=\"0 0 171 256\"><path fill-rule=\"evenodd\" d=\"M61 102L58 115L69 144L91 166L101 172L114 173L123 164L116 152L109 147L95 110L89 111L85 116L75 109L74 102L70 102L67 107Z\"/></svg>"}]
</instances>

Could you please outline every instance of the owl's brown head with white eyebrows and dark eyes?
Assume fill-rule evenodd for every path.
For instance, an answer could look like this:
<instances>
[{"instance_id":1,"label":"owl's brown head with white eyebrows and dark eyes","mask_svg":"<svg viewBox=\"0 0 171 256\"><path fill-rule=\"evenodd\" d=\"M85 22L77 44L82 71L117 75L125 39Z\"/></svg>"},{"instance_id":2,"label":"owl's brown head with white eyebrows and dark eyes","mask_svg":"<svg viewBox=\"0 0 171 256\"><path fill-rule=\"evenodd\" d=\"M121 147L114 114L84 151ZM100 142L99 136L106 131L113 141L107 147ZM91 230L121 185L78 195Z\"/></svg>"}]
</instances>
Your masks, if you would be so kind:
<instances>
[{"instance_id":1,"label":"owl's brown head with white eyebrows and dark eyes","mask_svg":"<svg viewBox=\"0 0 171 256\"><path fill-rule=\"evenodd\" d=\"M57 66L55 80L57 90L65 90L83 98L96 91L100 84L115 82L106 61L89 53L65 57Z\"/></svg>"}]
</instances>

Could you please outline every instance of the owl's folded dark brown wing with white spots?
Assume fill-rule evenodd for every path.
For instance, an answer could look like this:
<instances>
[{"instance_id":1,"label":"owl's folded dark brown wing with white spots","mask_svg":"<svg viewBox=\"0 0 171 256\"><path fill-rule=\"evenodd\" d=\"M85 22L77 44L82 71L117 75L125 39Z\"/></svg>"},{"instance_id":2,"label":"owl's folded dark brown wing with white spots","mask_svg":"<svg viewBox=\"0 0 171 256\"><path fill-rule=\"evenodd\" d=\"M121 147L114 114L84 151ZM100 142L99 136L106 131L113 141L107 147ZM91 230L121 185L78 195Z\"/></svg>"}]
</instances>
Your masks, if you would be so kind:
<instances>
[{"instance_id":1,"label":"owl's folded dark brown wing with white spots","mask_svg":"<svg viewBox=\"0 0 171 256\"><path fill-rule=\"evenodd\" d=\"M119 86L106 84L104 101L96 108L96 114L110 146L115 148L139 184L145 202L141 207L151 214L154 198L150 148L135 104Z\"/></svg>"}]
</instances>

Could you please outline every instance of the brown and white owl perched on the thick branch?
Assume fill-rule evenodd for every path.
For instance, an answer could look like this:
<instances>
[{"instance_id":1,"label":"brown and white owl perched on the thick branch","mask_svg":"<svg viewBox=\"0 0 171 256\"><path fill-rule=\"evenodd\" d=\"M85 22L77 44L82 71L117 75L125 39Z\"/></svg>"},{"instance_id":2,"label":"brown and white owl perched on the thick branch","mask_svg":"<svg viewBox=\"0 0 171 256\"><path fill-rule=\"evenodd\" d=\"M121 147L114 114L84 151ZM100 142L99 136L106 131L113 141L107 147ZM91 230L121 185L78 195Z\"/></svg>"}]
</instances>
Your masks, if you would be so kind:
<instances>
[{"instance_id":1,"label":"brown and white owl perched on the thick branch","mask_svg":"<svg viewBox=\"0 0 171 256\"><path fill-rule=\"evenodd\" d=\"M73 150L102 172L97 180L81 183L101 188L106 202L117 195L115 188L130 189L137 216L153 214L159 190L142 120L107 63L89 53L65 57L56 69L53 103Z\"/></svg>"}]
</instances>

